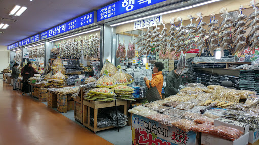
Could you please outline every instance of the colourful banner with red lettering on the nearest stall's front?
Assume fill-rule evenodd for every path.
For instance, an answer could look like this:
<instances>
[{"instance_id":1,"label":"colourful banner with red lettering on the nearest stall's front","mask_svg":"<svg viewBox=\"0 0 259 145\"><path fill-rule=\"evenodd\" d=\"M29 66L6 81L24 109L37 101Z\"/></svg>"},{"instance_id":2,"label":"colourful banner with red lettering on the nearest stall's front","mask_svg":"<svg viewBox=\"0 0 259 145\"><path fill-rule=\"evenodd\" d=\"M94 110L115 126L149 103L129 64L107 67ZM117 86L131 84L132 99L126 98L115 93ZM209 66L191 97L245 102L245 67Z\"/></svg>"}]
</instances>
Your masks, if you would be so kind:
<instances>
[{"instance_id":1,"label":"colourful banner with red lettering on the nearest stall's front","mask_svg":"<svg viewBox=\"0 0 259 145\"><path fill-rule=\"evenodd\" d=\"M195 143L196 132L185 132L132 114L132 144L134 145L193 145Z\"/></svg>"}]
</instances>

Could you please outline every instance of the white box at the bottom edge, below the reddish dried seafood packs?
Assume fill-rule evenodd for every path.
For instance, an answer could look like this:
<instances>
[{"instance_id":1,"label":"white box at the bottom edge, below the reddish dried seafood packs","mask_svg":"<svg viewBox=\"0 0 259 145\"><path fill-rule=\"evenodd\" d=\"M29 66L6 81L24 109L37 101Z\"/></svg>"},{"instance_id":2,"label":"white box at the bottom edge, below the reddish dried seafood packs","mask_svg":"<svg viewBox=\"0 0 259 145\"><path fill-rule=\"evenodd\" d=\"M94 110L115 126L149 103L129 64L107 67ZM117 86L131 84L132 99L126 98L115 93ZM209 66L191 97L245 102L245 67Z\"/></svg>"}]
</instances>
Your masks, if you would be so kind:
<instances>
[{"instance_id":1,"label":"white box at the bottom edge, below the reddish dried seafood packs","mask_svg":"<svg viewBox=\"0 0 259 145\"><path fill-rule=\"evenodd\" d=\"M201 133L201 144L202 145L247 145L249 140L249 133L241 136L235 141L222 139L207 133Z\"/></svg>"}]
</instances>

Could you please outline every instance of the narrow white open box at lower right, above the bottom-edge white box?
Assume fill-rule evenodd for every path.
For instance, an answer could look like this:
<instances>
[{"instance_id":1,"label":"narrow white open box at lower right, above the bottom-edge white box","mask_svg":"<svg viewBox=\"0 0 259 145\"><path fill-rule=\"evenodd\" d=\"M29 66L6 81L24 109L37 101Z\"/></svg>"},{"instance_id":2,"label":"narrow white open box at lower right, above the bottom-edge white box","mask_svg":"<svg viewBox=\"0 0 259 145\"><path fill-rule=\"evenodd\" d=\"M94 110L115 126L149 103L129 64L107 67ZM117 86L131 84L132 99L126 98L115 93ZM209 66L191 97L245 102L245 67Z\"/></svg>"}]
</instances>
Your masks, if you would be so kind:
<instances>
[{"instance_id":1,"label":"narrow white open box at lower right, above the bottom-edge white box","mask_svg":"<svg viewBox=\"0 0 259 145\"><path fill-rule=\"evenodd\" d=\"M247 132L249 132L249 127L250 127L250 125L247 124L247 123L244 123L244 124L245 124L245 127L241 127L241 126L233 125L233 124L230 124L230 123L227 123L227 122L222 122L222 121L220 121L220 120L218 120L218 119L221 119L221 118L217 118L217 119L214 120L214 125L215 125L215 126L223 125L223 126L227 126L227 127L236 128L236 129L238 129L238 130L240 130L240 131L243 131L244 134L246 134ZM229 120L229 119L224 119L224 120ZM232 121L232 120L229 120L229 121ZM235 121L235 122L237 122L237 121ZM237 123L238 123L238 122L237 122Z\"/></svg>"}]
</instances>

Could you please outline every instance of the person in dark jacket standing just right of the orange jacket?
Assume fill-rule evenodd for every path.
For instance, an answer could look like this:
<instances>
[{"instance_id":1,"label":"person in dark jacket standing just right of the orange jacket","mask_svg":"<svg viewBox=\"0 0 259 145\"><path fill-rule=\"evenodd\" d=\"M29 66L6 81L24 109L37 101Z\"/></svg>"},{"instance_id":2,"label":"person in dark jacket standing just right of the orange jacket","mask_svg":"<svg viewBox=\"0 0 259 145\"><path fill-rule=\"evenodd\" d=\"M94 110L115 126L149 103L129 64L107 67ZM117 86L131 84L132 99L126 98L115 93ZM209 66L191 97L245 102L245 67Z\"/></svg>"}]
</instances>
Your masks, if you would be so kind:
<instances>
[{"instance_id":1,"label":"person in dark jacket standing just right of the orange jacket","mask_svg":"<svg viewBox=\"0 0 259 145\"><path fill-rule=\"evenodd\" d=\"M166 77L165 97L176 95L179 92L179 86L184 85L180 76L181 74L182 72L177 74L176 69L168 74Z\"/></svg>"}]
</instances>

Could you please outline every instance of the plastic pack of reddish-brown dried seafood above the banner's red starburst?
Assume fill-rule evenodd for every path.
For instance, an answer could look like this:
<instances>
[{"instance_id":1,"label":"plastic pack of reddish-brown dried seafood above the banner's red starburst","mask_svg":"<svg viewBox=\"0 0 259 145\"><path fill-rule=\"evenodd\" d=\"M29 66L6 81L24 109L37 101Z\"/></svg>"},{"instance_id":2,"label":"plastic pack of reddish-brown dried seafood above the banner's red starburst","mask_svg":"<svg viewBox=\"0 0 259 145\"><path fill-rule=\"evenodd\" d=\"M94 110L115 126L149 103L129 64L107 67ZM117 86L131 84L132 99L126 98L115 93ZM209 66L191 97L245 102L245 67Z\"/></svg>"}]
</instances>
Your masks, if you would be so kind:
<instances>
[{"instance_id":1,"label":"plastic pack of reddish-brown dried seafood above the banner's red starburst","mask_svg":"<svg viewBox=\"0 0 259 145\"><path fill-rule=\"evenodd\" d=\"M173 122L172 125L185 132L189 132L191 130L191 127L194 125L197 125L197 124L195 122L189 121L187 119L181 119L181 120Z\"/></svg>"}]
</instances>

